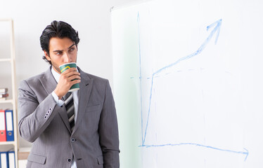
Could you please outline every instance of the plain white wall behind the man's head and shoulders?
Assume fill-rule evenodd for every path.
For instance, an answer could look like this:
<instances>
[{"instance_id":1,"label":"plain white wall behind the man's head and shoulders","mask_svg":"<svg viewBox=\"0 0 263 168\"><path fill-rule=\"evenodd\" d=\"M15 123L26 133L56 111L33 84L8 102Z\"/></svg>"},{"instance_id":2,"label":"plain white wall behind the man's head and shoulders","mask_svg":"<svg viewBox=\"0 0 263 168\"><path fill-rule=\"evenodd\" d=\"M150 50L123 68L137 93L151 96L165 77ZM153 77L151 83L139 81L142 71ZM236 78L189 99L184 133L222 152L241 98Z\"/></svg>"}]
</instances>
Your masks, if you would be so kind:
<instances>
[{"instance_id":1,"label":"plain white wall behind the man's head and shoulders","mask_svg":"<svg viewBox=\"0 0 263 168\"><path fill-rule=\"evenodd\" d=\"M77 64L80 68L87 73L108 78L113 84L110 8L131 1L138 0L0 0L0 18L14 20L17 85L21 80L48 68L49 64L41 59L44 53L40 48L39 36L53 20L68 22L79 31ZM3 38L0 39L0 46L0 57L4 57L3 54L8 51L2 50L6 46ZM9 81L10 74L1 69L0 87L11 85ZM20 147L26 146L30 144L20 139Z\"/></svg>"}]
</instances>

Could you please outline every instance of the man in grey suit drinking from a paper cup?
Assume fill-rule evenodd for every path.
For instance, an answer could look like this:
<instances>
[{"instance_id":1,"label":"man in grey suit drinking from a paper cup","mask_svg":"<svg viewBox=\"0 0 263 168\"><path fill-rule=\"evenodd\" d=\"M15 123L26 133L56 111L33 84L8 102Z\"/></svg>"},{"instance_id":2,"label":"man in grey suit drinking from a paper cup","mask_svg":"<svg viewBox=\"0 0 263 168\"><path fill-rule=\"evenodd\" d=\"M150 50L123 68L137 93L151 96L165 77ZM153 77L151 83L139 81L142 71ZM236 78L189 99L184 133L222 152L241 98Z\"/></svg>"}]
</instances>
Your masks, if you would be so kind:
<instances>
[{"instance_id":1,"label":"man in grey suit drinking from a paper cup","mask_svg":"<svg viewBox=\"0 0 263 168\"><path fill-rule=\"evenodd\" d=\"M33 142L27 167L120 167L117 117L108 80L79 67L60 73L60 65L77 62L77 31L68 23L53 21L40 42L51 66L19 87L19 133ZM79 90L67 98L75 83Z\"/></svg>"}]
</instances>

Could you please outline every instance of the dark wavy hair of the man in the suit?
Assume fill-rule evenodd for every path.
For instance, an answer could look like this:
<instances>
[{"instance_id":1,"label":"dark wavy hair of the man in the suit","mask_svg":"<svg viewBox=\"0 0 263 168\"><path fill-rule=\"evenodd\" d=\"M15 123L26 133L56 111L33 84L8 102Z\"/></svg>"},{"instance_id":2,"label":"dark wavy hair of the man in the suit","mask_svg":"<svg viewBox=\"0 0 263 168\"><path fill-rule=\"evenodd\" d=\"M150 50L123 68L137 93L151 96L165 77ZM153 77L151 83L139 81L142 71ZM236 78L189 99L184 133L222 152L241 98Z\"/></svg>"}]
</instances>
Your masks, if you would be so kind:
<instances>
[{"instance_id":1,"label":"dark wavy hair of the man in the suit","mask_svg":"<svg viewBox=\"0 0 263 168\"><path fill-rule=\"evenodd\" d=\"M46 53L49 55L49 41L52 37L58 37L58 38L64 38L68 37L70 40L72 40L75 45L79 43L79 34L75 29L71 27L66 22L63 21L56 21L54 20L51 22L51 25L48 25L44 31L42 31L42 34L40 36L40 45L43 51L46 51ZM45 56L42 57L46 62L51 62L46 59Z\"/></svg>"}]
</instances>

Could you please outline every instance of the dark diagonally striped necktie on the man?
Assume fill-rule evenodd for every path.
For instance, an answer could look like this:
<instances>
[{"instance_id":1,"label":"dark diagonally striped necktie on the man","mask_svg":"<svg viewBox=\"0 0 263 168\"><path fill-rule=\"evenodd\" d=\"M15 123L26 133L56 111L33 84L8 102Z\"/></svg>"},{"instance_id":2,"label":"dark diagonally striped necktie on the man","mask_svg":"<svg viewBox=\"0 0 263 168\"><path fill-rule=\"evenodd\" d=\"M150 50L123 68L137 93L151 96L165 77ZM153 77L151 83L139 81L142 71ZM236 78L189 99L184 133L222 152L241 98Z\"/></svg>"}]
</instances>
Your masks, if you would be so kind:
<instances>
[{"instance_id":1,"label":"dark diagonally striped necktie on the man","mask_svg":"<svg viewBox=\"0 0 263 168\"><path fill-rule=\"evenodd\" d=\"M67 114L68 114L68 121L70 122L70 128L71 131L73 131L74 126L75 126L75 107L74 107L74 100L73 100L73 95L72 92L68 92L67 94L65 94L65 107L67 110Z\"/></svg>"}]
</instances>

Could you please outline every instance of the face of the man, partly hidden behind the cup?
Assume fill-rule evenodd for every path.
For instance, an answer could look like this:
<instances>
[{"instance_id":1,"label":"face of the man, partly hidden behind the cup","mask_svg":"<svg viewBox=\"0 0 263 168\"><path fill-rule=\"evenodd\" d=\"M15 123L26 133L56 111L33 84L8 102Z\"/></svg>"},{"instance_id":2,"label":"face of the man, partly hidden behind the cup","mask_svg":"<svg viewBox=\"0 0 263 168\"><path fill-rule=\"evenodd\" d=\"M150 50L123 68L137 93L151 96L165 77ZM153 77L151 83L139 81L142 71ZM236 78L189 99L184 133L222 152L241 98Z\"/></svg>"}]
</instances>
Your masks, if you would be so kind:
<instances>
[{"instance_id":1,"label":"face of the man, partly hidden behind the cup","mask_svg":"<svg viewBox=\"0 0 263 168\"><path fill-rule=\"evenodd\" d=\"M70 38L52 37L49 41L49 55L44 51L46 59L51 61L53 69L60 73L62 64L77 62L77 46Z\"/></svg>"}]
</instances>

